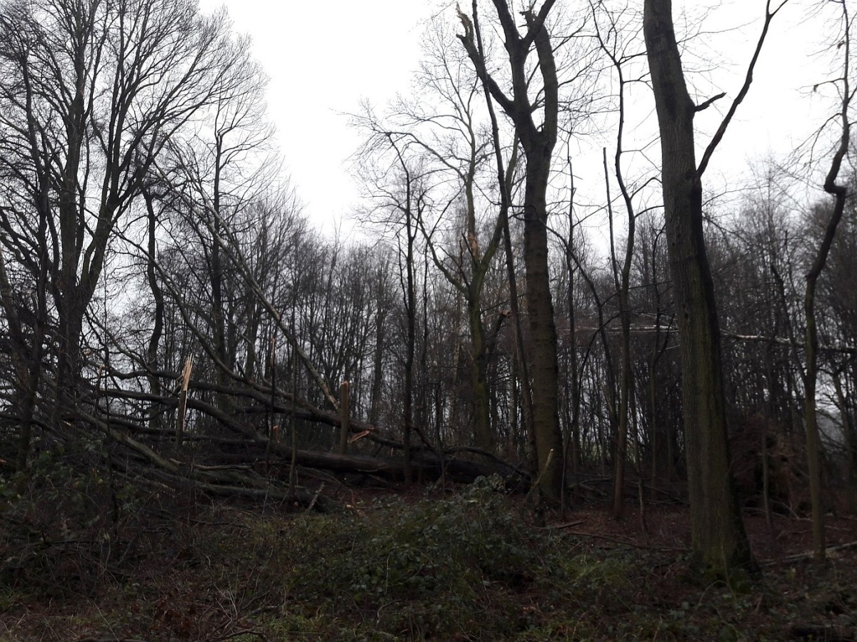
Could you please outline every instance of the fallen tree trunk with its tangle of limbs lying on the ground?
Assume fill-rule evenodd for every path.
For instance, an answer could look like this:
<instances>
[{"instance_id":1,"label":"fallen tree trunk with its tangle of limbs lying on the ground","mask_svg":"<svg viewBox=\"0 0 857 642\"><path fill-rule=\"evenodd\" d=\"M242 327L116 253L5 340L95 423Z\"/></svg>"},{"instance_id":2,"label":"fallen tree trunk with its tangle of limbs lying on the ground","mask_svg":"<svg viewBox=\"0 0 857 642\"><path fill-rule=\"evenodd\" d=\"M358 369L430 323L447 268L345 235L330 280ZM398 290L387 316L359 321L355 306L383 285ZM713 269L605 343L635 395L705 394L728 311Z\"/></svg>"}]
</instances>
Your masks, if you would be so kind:
<instances>
[{"instance_id":1,"label":"fallen tree trunk with its tangle of limbs lying on the ground","mask_svg":"<svg viewBox=\"0 0 857 642\"><path fill-rule=\"evenodd\" d=\"M298 488L290 490L286 484L268 474L272 467L291 467L293 456L300 467L338 474L368 475L390 481L405 479L405 461L400 456L339 455L303 449L293 452L290 445L271 440L256 426L259 416L264 413L295 413L298 418L310 422L339 426L339 413L321 410L303 400L300 407L293 408L289 402L291 400L279 398L271 401L270 397L253 387L229 389L216 384L191 381L191 388L195 386L208 391L224 388L223 392L234 395L236 399L246 400L246 405L233 405L230 411L226 412L213 403L189 395L187 408L190 412L212 419L225 430L211 436L188 435L196 444L192 449L192 458L186 455L186 449L176 448L174 431L153 428L146 419L153 412L177 407L177 397L169 393L153 395L141 389L93 387L87 391L88 394L81 396L81 403L74 413L63 418L63 423L69 428L75 426L84 431L87 425L92 426L94 430L109 437L118 447L127 449L131 459L136 461L137 474L162 481L168 479L167 483L174 487L192 484L207 494L266 497L279 501L294 501L303 506L315 504L319 498L312 491ZM117 402L109 403L111 399ZM396 453L402 449L402 443L398 439L378 431L374 425L357 419L352 419L350 423L352 434L390 449L387 452ZM235 438L225 439L228 433ZM466 454L467 458L457 454ZM226 461L225 458L241 466L217 470L216 465ZM121 460L120 457L114 458L113 461ZM129 459L125 462L129 465ZM445 479L467 484L481 476L499 474L506 479L509 487L526 487L529 484L528 473L500 460L496 455L469 447L458 447L440 453L428 442L413 449L411 470L424 481Z\"/></svg>"}]
</instances>

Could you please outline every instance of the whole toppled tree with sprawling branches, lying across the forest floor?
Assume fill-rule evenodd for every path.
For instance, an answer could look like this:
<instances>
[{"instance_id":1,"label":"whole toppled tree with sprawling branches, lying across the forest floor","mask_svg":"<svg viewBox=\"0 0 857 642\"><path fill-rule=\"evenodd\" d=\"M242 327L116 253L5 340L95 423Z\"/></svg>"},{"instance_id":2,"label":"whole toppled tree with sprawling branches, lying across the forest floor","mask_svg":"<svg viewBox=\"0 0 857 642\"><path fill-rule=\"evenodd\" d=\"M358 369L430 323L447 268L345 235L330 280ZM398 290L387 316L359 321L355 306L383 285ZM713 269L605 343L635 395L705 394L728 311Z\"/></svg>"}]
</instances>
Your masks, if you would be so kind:
<instances>
[{"instance_id":1,"label":"whole toppled tree with sprawling branches, lying across the forest floor","mask_svg":"<svg viewBox=\"0 0 857 642\"><path fill-rule=\"evenodd\" d=\"M115 380L129 381L139 373L113 374ZM171 373L159 375L169 377ZM225 387L189 380L188 391L184 401L186 412L195 413L196 424L203 429L185 432L181 436L184 443L177 431L152 425L147 420L157 413L175 422L177 418L173 415L180 409L179 395L153 395L131 385L89 389L86 395L81 395L74 411L62 418L63 430L51 431L45 423L45 435L67 444L78 442L87 432L101 435L105 442L113 444L108 465L174 488L193 486L213 496L264 498L321 510L331 508L332 502L320 496L318 489L290 483L292 467L326 471L342 479L353 475L388 482L405 479L405 458L400 455L403 444L375 425L358 419L350 419L348 425L351 442L371 443L374 454L292 448L279 440L279 432L265 434L265 426L260 428L259 419L267 413L284 420L339 428L341 415L279 390L271 395L269 390L253 384ZM213 392L230 395L234 403L229 412L201 398ZM49 399L45 398L43 404L50 406ZM416 432L423 437L422 431ZM482 476L500 475L510 486L529 484L526 471L496 455L470 446L441 451L424 437L423 444L415 445L412 450L411 473L427 482L469 484Z\"/></svg>"}]
</instances>

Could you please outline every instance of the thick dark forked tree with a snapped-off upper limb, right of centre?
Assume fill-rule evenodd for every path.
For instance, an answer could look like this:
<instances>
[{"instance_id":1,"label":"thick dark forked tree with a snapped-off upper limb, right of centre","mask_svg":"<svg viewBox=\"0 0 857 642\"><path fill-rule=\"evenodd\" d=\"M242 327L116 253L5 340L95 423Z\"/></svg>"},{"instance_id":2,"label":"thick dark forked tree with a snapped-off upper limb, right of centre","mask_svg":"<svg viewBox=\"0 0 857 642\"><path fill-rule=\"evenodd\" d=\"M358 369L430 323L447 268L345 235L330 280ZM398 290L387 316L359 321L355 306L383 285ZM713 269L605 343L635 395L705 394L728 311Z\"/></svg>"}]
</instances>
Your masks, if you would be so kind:
<instances>
[{"instance_id":1,"label":"thick dark forked tree with a snapped-off upper limb, right of centre","mask_svg":"<svg viewBox=\"0 0 857 642\"><path fill-rule=\"evenodd\" d=\"M526 30L518 31L512 8L506 0L494 0L494 10L500 21L508 52L512 94L507 95L494 74L488 71L485 51L480 45L476 2L472 15L459 18L464 34L459 35L476 74L487 84L491 97L500 105L515 126L524 149L526 181L524 187L524 263L526 265L527 312L530 324L530 374L532 377L532 410L536 443L539 488L550 502L562 497L563 449L558 413L556 323L548 274L548 203L547 189L559 122L559 89L554 45L548 33L548 14L555 0L546 0L536 10L535 5L524 10ZM536 54L536 68L541 86L530 85L532 74L528 67L530 55ZM542 114L536 123L534 114Z\"/></svg>"}]
</instances>

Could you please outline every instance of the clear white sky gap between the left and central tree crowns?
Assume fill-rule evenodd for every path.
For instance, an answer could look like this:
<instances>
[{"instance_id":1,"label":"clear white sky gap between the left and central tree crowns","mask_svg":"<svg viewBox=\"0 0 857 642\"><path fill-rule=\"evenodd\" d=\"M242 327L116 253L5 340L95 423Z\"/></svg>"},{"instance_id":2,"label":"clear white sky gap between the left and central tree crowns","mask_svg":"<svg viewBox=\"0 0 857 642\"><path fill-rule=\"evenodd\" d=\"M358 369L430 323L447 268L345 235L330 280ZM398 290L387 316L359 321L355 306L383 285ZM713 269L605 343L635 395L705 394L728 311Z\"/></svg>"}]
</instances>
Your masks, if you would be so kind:
<instances>
[{"instance_id":1,"label":"clear white sky gap between the left and central tree crowns","mask_svg":"<svg viewBox=\"0 0 857 642\"><path fill-rule=\"evenodd\" d=\"M357 113L363 98L383 107L407 89L428 3L201 0L206 12L221 6L270 77L268 114L305 211L332 232L358 199L345 159L360 140L343 114Z\"/></svg>"}]
</instances>

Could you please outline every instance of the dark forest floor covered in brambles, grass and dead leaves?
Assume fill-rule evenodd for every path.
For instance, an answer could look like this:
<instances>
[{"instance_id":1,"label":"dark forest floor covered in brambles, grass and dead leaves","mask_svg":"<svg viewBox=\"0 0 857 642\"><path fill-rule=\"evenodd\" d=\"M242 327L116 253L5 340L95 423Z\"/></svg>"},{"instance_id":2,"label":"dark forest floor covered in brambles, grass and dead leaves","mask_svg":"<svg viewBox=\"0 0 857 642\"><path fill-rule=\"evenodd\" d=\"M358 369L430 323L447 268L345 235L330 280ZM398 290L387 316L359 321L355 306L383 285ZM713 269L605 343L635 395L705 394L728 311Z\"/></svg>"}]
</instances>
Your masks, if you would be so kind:
<instances>
[{"instance_id":1,"label":"dark forest floor covered in brambles, grass and dead leaves","mask_svg":"<svg viewBox=\"0 0 857 642\"><path fill-rule=\"evenodd\" d=\"M165 490L87 522L68 496L7 507L0 639L857 639L857 548L794 557L806 519L746 514L761 574L728 586L688 572L677 504L645 527L632 503L535 526L490 480L334 494L325 514ZM827 526L830 546L857 540L854 519Z\"/></svg>"}]
</instances>

